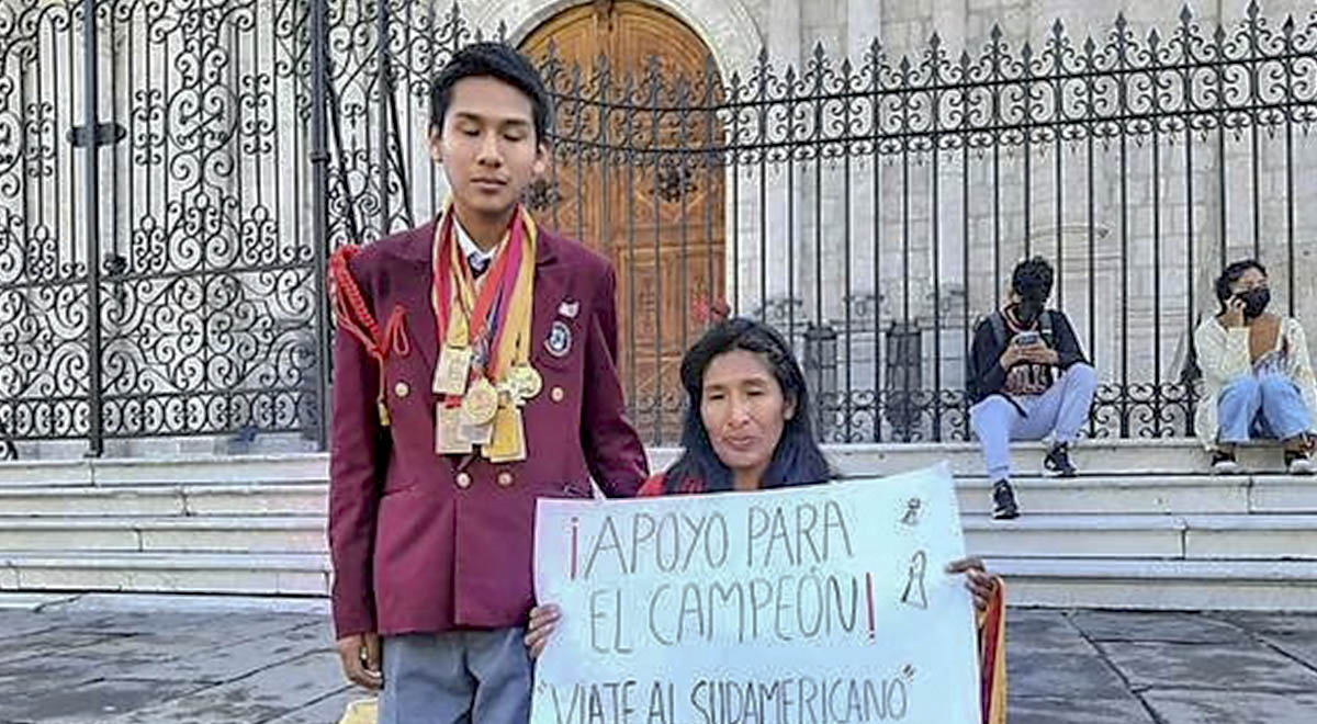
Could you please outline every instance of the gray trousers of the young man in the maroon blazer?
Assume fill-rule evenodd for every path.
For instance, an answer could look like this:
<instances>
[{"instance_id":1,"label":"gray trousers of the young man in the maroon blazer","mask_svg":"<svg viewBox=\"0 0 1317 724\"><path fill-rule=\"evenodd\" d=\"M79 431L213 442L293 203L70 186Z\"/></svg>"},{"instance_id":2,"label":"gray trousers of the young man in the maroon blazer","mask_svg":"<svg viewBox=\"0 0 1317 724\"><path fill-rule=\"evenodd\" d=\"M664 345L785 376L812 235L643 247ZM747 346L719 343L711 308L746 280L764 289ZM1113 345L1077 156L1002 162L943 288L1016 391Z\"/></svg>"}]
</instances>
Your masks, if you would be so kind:
<instances>
[{"instance_id":1,"label":"gray trousers of the young man in the maroon blazer","mask_svg":"<svg viewBox=\"0 0 1317 724\"><path fill-rule=\"evenodd\" d=\"M524 628L499 628L386 637L379 724L525 724L524 636Z\"/></svg>"}]
</instances>

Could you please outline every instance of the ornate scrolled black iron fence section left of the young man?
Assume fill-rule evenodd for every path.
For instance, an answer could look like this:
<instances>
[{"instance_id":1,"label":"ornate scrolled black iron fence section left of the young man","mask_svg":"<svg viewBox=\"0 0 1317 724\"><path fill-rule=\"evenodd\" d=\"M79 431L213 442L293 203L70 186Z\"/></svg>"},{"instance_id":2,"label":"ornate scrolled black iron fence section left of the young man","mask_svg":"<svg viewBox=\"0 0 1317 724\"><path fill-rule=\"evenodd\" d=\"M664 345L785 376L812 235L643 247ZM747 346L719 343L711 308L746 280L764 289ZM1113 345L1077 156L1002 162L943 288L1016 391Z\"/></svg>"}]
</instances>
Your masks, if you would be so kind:
<instances>
[{"instance_id":1,"label":"ornate scrolled black iron fence section left of the young man","mask_svg":"<svg viewBox=\"0 0 1317 724\"><path fill-rule=\"evenodd\" d=\"M315 430L296 3L0 5L0 425Z\"/></svg>"}]
</instances>

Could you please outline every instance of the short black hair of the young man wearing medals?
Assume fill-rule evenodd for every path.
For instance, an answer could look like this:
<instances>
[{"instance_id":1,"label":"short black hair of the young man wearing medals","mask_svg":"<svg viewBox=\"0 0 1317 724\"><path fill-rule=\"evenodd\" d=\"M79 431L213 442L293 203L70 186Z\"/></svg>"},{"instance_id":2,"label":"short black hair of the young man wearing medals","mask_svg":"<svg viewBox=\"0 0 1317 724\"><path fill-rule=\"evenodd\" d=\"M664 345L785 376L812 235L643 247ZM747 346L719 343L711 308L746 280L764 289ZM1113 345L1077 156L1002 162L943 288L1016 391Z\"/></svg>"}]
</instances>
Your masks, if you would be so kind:
<instances>
[{"instance_id":1,"label":"short black hair of the young man wearing medals","mask_svg":"<svg viewBox=\"0 0 1317 724\"><path fill-rule=\"evenodd\" d=\"M429 88L431 128L444 128L444 116L453 101L453 86L465 78L497 78L525 93L535 117L535 141L547 141L553 126L553 101L544 88L544 79L524 55L502 42L477 42L453 54Z\"/></svg>"}]
</instances>

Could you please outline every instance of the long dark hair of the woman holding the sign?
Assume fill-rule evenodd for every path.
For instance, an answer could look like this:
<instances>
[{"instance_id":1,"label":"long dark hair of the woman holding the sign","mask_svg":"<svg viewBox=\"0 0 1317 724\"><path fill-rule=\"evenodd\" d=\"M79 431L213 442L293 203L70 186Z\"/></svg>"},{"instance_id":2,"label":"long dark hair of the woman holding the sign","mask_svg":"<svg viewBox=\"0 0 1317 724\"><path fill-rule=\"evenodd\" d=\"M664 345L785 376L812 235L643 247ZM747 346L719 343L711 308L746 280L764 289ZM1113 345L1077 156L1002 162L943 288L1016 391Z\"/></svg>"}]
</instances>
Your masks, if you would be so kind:
<instances>
[{"instance_id":1,"label":"long dark hair of the woman holding the sign","mask_svg":"<svg viewBox=\"0 0 1317 724\"><path fill-rule=\"evenodd\" d=\"M782 388L782 396L795 405L795 413L782 428L782 438L773 450L761 487L822 483L830 479L832 471L814 440L805 373L792 355L792 349L773 328L753 320L731 319L706 332L681 361L681 383L686 388L689 403L681 432L685 452L668 470L668 491L680 492L689 479L703 483L709 491L732 490L732 473L714 453L699 408L705 370L715 357L735 350L760 355Z\"/></svg>"}]
</instances>

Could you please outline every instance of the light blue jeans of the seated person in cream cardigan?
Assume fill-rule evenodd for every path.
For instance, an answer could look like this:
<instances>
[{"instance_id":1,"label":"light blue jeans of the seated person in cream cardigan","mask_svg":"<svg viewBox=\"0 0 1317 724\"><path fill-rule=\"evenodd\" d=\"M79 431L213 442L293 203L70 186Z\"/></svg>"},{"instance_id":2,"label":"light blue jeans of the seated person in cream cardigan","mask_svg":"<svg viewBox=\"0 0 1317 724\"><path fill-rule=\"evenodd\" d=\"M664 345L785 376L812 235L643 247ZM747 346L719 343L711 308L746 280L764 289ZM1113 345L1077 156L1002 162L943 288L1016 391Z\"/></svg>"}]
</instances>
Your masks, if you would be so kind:
<instances>
[{"instance_id":1,"label":"light blue jeans of the seated person in cream cardigan","mask_svg":"<svg viewBox=\"0 0 1317 724\"><path fill-rule=\"evenodd\" d=\"M1289 440L1312 428L1299 386L1283 374L1242 376L1217 398L1221 442L1254 438Z\"/></svg>"}]
</instances>

